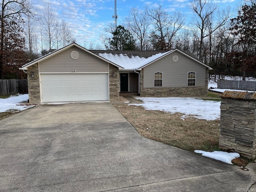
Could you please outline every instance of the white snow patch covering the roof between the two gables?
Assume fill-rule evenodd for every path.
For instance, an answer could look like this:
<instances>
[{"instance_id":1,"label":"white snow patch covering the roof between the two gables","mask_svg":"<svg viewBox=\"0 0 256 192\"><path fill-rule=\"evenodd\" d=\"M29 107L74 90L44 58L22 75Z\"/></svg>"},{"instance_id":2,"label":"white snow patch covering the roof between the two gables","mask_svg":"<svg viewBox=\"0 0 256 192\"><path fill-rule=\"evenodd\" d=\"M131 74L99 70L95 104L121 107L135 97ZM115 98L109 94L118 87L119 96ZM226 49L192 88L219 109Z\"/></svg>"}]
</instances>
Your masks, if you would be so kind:
<instances>
[{"instance_id":1,"label":"white snow patch covering the roof between the two gables","mask_svg":"<svg viewBox=\"0 0 256 192\"><path fill-rule=\"evenodd\" d=\"M105 58L106 60L109 60L121 66L125 70L134 70L170 53L171 51L158 53L148 58L139 57L139 56L128 57L127 54L118 55L118 54L112 54L112 53L99 53L98 55Z\"/></svg>"}]
</instances>

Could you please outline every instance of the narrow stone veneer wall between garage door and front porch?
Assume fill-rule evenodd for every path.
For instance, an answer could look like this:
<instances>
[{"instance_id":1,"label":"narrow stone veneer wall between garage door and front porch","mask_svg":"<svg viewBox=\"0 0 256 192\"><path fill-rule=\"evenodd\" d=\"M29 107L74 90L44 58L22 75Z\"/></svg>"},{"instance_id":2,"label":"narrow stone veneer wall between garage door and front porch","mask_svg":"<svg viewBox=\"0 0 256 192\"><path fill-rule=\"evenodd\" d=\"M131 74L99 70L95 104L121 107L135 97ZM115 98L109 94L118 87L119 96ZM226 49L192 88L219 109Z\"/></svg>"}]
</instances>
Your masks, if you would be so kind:
<instances>
[{"instance_id":1,"label":"narrow stone veneer wall between garage door and front porch","mask_svg":"<svg viewBox=\"0 0 256 192\"><path fill-rule=\"evenodd\" d=\"M115 76L113 74L115 73ZM109 64L109 96L110 101L115 102L119 100L119 69L118 67Z\"/></svg>"}]
</instances>

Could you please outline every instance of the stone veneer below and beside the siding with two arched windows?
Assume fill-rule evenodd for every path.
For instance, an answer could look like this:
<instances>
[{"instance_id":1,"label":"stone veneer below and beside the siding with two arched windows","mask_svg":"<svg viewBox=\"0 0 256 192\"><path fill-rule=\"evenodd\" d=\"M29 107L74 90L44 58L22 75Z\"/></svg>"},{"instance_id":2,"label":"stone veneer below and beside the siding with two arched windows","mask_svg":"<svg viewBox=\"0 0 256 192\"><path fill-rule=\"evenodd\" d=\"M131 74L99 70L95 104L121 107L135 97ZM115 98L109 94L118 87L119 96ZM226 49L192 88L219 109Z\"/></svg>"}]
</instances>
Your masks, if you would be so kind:
<instances>
[{"instance_id":1,"label":"stone veneer below and beside the siding with two arched windows","mask_svg":"<svg viewBox=\"0 0 256 192\"><path fill-rule=\"evenodd\" d=\"M193 87L154 87L144 88L144 70L140 71L140 96L142 97L206 97L208 93L208 69L206 86Z\"/></svg>"}]
</instances>

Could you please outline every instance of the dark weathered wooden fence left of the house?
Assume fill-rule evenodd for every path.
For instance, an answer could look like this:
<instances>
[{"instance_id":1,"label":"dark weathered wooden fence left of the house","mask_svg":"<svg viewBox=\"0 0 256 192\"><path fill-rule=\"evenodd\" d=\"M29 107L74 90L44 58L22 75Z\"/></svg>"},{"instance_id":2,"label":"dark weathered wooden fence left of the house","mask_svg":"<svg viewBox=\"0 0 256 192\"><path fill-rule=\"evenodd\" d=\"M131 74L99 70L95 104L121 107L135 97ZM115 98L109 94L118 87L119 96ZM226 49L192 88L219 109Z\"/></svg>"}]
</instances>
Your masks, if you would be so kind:
<instances>
[{"instance_id":1,"label":"dark weathered wooden fence left of the house","mask_svg":"<svg viewBox=\"0 0 256 192\"><path fill-rule=\"evenodd\" d=\"M0 80L0 95L27 94L27 79L4 79Z\"/></svg>"}]
</instances>

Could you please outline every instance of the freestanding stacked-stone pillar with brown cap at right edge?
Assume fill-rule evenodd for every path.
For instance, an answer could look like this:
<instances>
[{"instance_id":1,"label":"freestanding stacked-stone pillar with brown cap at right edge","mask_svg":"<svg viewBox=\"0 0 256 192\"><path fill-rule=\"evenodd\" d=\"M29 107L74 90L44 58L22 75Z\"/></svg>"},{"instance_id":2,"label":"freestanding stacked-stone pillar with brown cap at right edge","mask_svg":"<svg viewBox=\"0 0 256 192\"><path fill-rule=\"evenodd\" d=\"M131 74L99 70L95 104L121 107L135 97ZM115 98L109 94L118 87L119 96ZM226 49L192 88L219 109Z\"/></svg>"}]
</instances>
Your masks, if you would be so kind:
<instances>
[{"instance_id":1,"label":"freestanding stacked-stone pillar with brown cap at right edge","mask_svg":"<svg viewBox=\"0 0 256 192\"><path fill-rule=\"evenodd\" d=\"M256 158L256 92L225 91L221 97L219 148Z\"/></svg>"}]
</instances>

